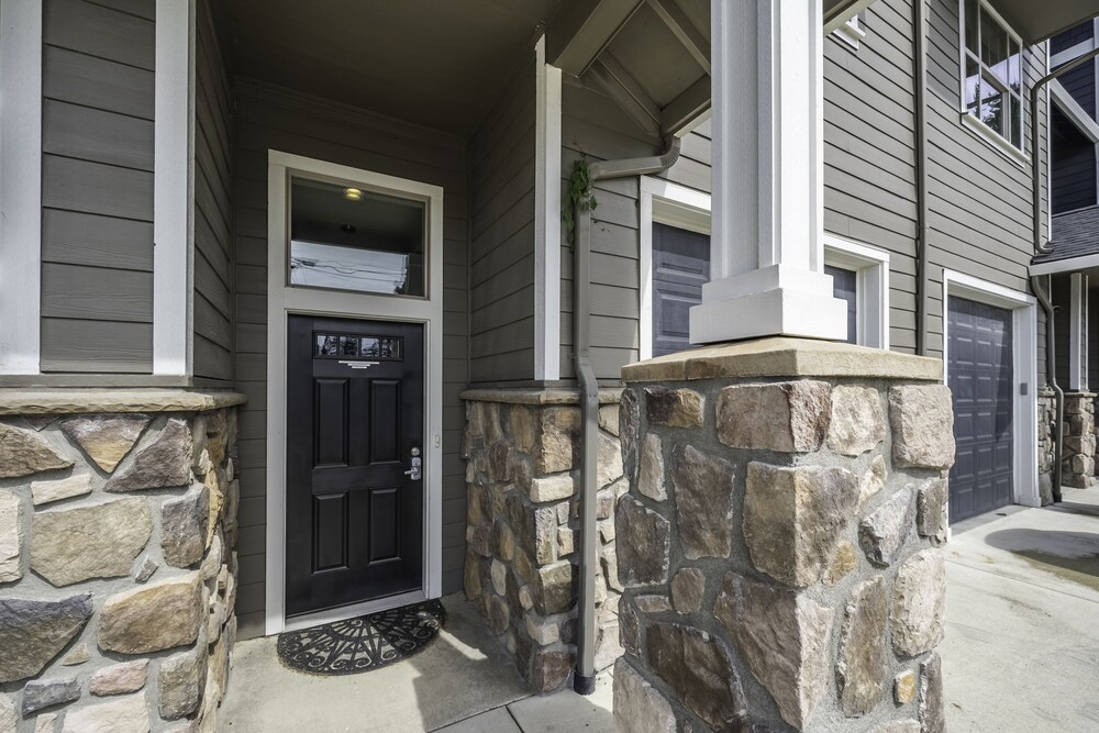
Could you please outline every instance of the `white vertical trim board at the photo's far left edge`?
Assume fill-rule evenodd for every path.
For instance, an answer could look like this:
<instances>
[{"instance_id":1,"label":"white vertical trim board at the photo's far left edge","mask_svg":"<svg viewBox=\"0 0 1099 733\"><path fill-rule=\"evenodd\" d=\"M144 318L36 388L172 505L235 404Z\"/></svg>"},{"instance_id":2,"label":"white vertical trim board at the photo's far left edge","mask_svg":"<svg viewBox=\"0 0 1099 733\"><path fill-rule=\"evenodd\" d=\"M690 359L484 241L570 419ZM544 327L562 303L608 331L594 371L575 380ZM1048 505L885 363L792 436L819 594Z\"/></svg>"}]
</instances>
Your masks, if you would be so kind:
<instances>
[{"instance_id":1,"label":"white vertical trim board at the photo's far left edge","mask_svg":"<svg viewBox=\"0 0 1099 733\"><path fill-rule=\"evenodd\" d=\"M42 308L42 2L0 2L0 375L36 375Z\"/></svg>"}]
</instances>

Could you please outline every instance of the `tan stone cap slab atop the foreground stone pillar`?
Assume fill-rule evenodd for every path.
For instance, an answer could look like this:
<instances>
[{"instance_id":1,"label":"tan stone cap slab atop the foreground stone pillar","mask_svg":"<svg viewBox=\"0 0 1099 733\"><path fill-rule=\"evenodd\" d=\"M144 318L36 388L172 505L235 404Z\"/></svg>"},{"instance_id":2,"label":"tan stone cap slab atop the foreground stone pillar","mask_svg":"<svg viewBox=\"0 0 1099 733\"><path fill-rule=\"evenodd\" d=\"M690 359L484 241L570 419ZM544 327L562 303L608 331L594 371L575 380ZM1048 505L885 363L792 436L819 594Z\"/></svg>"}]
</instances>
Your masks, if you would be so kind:
<instances>
[{"instance_id":1,"label":"tan stone cap slab atop the foreground stone pillar","mask_svg":"<svg viewBox=\"0 0 1099 733\"><path fill-rule=\"evenodd\" d=\"M864 377L943 380L941 359L834 341L770 337L713 344L622 368L624 381L722 377Z\"/></svg>"}]
</instances>

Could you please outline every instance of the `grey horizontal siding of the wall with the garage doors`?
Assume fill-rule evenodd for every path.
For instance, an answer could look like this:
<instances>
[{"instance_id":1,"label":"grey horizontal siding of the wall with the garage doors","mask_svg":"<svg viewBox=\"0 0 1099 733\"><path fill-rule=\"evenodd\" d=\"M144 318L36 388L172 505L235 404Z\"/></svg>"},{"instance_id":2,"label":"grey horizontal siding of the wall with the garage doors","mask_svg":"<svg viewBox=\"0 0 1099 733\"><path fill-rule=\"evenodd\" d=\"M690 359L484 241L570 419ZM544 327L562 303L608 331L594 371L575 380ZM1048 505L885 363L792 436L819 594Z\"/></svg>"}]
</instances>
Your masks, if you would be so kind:
<instances>
[{"instance_id":1,"label":"grey horizontal siding of the wall with the garage doors","mask_svg":"<svg viewBox=\"0 0 1099 733\"><path fill-rule=\"evenodd\" d=\"M932 0L928 13L929 302L928 355L942 357L942 273L952 269L1029 292L1030 166L996 149L961 116L958 2ZM863 13L858 48L832 36L824 71L824 229L890 253L890 348L917 351L919 226L911 0L879 0ZM1028 86L1045 74L1045 46L1025 53ZM1045 151L1044 104L1040 114ZM1028 113L1028 119L1030 114ZM624 131L635 131L633 133ZM1028 126L1029 130L1029 126ZM1029 132L1026 133L1029 135ZM600 90L566 79L562 174L575 159L651 155L648 138ZM709 191L709 127L684 142L669 180ZM1046 171L1041 186L1047 200ZM592 362L619 379L637 359L639 191L636 179L599 182L592 227ZM562 377L571 378L571 257L562 244ZM1039 379L1044 379L1044 315L1039 314Z\"/></svg>"}]
</instances>

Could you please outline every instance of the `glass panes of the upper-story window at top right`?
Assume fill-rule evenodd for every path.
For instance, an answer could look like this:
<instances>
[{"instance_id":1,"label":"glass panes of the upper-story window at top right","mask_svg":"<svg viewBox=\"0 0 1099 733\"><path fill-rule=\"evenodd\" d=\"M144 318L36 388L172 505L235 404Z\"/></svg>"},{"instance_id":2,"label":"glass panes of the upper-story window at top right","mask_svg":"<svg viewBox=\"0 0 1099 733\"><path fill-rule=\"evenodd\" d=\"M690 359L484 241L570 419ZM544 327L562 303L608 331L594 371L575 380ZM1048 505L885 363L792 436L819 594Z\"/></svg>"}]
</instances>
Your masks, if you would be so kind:
<instances>
[{"instance_id":1,"label":"glass panes of the upper-story window at top right","mask_svg":"<svg viewBox=\"0 0 1099 733\"><path fill-rule=\"evenodd\" d=\"M1017 151L1023 149L1019 36L985 0L963 0L962 101L966 112Z\"/></svg>"}]
</instances>

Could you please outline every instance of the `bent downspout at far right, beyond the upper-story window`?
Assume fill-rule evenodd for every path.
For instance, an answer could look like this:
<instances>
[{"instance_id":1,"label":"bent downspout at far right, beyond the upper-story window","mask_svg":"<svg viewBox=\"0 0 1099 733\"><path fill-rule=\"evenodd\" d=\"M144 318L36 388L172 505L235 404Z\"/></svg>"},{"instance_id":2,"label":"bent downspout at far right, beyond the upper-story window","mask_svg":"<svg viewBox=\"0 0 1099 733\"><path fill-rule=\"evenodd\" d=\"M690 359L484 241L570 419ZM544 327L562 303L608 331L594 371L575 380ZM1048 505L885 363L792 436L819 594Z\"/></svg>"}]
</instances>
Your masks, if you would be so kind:
<instances>
[{"instance_id":1,"label":"bent downspout at far right, beyond the upper-story window","mask_svg":"<svg viewBox=\"0 0 1099 733\"><path fill-rule=\"evenodd\" d=\"M1067 64L1064 64L1054 71L1050 71L1044 77L1037 80L1037 82L1031 88L1031 189L1032 189L1032 226L1034 234L1034 252L1037 254L1050 254L1053 247L1048 242L1042 241L1042 187L1039 185L1041 180L1042 173L1042 160L1039 155L1041 137L1039 135L1039 125L1034 123L1035 114L1034 111L1039 105L1039 93L1045 85L1050 84L1062 74L1066 71L1072 71L1074 68L1086 64L1088 60L1099 56L1099 48L1091 51L1083 56L1078 56ZM1042 310L1045 311L1045 379L1053 389L1054 400L1055 400L1055 412L1053 429L1053 500L1061 501L1061 479L1062 479L1062 467L1061 467L1061 456L1064 452L1064 427L1063 423L1065 420L1065 392L1061 389L1057 384L1057 352L1056 352L1056 329L1054 327L1054 311L1053 303L1050 298L1053 293L1053 276L1050 276L1050 289L1048 291L1042 288L1041 279L1032 275L1031 276L1031 289L1034 291L1034 296L1042 303Z\"/></svg>"}]
</instances>

